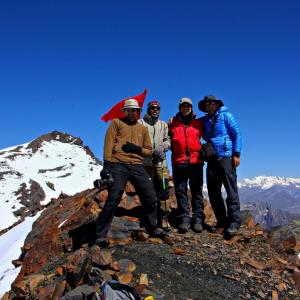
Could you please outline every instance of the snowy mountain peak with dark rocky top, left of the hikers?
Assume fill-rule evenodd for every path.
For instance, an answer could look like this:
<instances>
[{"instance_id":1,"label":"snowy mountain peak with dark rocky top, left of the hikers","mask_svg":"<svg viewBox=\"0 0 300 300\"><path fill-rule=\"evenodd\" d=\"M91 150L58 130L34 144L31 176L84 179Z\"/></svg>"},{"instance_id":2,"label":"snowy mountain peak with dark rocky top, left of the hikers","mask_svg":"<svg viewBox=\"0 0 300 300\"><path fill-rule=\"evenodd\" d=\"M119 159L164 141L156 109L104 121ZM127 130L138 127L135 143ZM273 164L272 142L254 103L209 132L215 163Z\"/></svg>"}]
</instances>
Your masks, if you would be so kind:
<instances>
[{"instance_id":1,"label":"snowy mountain peak with dark rocky top, left of the hikers","mask_svg":"<svg viewBox=\"0 0 300 300\"><path fill-rule=\"evenodd\" d=\"M80 138L53 131L0 151L0 230L33 215L61 192L92 186L101 163Z\"/></svg>"}]
</instances>

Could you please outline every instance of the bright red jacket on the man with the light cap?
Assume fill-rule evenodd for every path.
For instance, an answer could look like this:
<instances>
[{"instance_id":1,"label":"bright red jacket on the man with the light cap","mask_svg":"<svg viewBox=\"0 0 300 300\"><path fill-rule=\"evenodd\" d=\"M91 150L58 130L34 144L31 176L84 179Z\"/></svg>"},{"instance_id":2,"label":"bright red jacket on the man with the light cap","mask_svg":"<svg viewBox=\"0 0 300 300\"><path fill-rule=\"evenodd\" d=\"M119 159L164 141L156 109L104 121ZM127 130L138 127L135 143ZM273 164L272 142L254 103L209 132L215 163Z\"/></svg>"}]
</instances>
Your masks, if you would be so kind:
<instances>
[{"instance_id":1,"label":"bright red jacket on the man with the light cap","mask_svg":"<svg viewBox=\"0 0 300 300\"><path fill-rule=\"evenodd\" d=\"M187 125L180 120L178 114L169 122L172 164L202 163L199 158L202 132L202 121L195 119L195 116Z\"/></svg>"}]
</instances>

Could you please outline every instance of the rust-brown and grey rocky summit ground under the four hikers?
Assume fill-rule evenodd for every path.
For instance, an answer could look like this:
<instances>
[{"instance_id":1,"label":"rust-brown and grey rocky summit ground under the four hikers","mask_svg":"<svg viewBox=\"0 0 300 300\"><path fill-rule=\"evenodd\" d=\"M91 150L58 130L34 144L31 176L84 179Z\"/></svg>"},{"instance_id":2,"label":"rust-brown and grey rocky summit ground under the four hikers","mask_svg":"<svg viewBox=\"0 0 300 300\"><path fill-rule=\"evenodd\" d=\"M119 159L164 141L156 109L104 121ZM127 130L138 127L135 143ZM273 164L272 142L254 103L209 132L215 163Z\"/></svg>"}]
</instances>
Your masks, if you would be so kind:
<instances>
[{"instance_id":1,"label":"rust-brown and grey rocky summit ground under the four hikers","mask_svg":"<svg viewBox=\"0 0 300 300\"><path fill-rule=\"evenodd\" d=\"M173 188L171 195L176 209ZM20 273L2 299L101 299L101 283L111 279L142 299L299 299L299 222L266 232L244 211L230 240L209 226L200 234L172 229L164 240L149 238L128 185L109 231L111 246L102 249L94 244L95 224L106 198L106 190L88 189L53 199L14 261ZM212 225L208 203L205 212Z\"/></svg>"}]
</instances>

